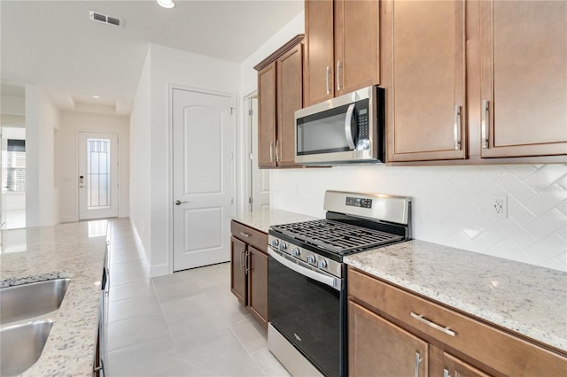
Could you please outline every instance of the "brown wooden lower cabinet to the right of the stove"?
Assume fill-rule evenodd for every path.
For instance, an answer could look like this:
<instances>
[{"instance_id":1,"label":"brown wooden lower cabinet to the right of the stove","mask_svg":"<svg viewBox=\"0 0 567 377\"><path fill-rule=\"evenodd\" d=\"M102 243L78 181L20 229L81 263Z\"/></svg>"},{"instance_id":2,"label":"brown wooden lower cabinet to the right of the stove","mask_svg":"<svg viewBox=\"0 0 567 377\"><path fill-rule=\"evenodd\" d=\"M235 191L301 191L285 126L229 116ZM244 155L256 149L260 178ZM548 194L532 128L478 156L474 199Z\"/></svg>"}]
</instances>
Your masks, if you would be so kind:
<instances>
[{"instance_id":1,"label":"brown wooden lower cabinet to the right of the stove","mask_svg":"<svg viewBox=\"0 0 567 377\"><path fill-rule=\"evenodd\" d=\"M348 331L351 376L567 375L564 353L352 267Z\"/></svg>"}]
</instances>

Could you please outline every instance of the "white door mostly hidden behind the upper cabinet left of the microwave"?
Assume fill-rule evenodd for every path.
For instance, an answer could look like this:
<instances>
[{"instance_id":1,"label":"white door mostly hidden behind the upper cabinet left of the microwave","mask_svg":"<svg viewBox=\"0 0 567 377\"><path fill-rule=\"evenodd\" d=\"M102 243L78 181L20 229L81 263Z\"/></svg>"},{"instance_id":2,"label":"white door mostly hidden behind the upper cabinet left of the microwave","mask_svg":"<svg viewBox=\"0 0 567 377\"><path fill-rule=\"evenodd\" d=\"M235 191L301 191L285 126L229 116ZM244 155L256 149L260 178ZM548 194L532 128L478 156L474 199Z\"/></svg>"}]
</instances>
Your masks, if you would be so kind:
<instances>
[{"instance_id":1,"label":"white door mostly hidden behind the upper cabinet left of the microwave","mask_svg":"<svg viewBox=\"0 0 567 377\"><path fill-rule=\"evenodd\" d=\"M250 110L250 162L251 197L248 200L251 211L269 210L269 180L271 169L258 168L258 98L252 97L249 102Z\"/></svg>"}]
</instances>

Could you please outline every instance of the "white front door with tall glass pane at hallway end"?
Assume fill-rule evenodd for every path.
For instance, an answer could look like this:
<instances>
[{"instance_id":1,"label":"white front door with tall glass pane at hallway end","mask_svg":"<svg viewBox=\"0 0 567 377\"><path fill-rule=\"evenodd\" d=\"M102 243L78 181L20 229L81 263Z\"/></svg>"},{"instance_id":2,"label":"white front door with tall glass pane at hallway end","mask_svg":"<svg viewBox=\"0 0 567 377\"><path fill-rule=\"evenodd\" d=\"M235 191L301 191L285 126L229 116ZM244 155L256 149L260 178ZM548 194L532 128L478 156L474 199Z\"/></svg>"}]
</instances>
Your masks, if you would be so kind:
<instances>
[{"instance_id":1,"label":"white front door with tall glass pane at hallway end","mask_svg":"<svg viewBox=\"0 0 567 377\"><path fill-rule=\"evenodd\" d=\"M79 133L79 219L118 216L118 135Z\"/></svg>"}]
</instances>

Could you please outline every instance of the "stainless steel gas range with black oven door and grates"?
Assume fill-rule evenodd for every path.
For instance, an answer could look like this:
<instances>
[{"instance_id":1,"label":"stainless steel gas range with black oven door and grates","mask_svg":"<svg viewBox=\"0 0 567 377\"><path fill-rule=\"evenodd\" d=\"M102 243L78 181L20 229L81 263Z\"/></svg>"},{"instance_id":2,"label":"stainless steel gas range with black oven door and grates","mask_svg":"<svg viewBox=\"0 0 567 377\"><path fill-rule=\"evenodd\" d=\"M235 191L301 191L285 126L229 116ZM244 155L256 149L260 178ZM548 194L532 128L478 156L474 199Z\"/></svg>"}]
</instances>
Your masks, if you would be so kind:
<instances>
[{"instance_id":1,"label":"stainless steel gas range with black oven door and grates","mask_svg":"<svg viewBox=\"0 0 567 377\"><path fill-rule=\"evenodd\" d=\"M347 375L346 255L411 238L411 198L327 191L326 219L268 231L268 348L295 376Z\"/></svg>"}]
</instances>

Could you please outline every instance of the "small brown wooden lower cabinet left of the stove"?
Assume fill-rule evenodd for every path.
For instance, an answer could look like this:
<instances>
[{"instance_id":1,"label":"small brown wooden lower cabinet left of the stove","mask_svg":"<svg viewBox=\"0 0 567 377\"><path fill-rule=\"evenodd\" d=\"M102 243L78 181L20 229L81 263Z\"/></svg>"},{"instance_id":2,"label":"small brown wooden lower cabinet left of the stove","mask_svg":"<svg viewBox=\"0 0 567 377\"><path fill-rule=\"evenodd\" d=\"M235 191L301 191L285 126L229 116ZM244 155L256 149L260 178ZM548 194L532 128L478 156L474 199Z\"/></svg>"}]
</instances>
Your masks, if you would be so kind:
<instances>
[{"instance_id":1,"label":"small brown wooden lower cabinet left of the stove","mask_svg":"<svg viewBox=\"0 0 567 377\"><path fill-rule=\"evenodd\" d=\"M263 327L268 327L268 235L230 223L230 291Z\"/></svg>"}]
</instances>

